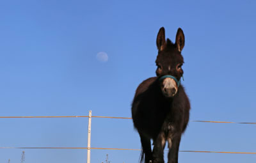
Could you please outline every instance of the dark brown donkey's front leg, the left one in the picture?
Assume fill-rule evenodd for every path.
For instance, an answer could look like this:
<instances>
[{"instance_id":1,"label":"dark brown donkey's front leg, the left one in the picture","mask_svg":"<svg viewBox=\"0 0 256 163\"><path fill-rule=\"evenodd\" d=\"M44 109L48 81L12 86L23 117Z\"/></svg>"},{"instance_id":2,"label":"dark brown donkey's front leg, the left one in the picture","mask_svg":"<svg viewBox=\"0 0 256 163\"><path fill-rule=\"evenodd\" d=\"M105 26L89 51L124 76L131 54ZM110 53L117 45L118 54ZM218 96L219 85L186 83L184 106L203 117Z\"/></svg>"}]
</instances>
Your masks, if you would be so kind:
<instances>
[{"instance_id":1,"label":"dark brown donkey's front leg, the left one in the picture","mask_svg":"<svg viewBox=\"0 0 256 163\"><path fill-rule=\"evenodd\" d=\"M165 146L165 136L163 132L154 139L153 148L153 163L164 163L164 146Z\"/></svg>"}]
</instances>

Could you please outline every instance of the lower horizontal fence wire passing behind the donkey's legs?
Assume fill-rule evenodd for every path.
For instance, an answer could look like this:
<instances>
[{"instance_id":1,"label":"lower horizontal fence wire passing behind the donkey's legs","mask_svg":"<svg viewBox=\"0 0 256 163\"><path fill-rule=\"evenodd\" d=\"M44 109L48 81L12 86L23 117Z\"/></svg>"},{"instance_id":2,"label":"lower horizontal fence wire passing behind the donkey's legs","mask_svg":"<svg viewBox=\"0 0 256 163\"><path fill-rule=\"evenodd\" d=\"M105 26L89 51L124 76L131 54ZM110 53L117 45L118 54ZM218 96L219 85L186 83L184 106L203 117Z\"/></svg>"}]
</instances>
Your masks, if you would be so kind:
<instances>
[{"instance_id":1,"label":"lower horizontal fence wire passing behind the donkey's legs","mask_svg":"<svg viewBox=\"0 0 256 163\"><path fill-rule=\"evenodd\" d=\"M87 150L87 147L0 147L0 149L78 149ZM89 148L90 150L133 150L140 151L140 149L127 149L127 148ZM197 152L197 153L230 153L230 154L256 154L256 152L239 152L239 151L184 151L180 152Z\"/></svg>"}]
</instances>

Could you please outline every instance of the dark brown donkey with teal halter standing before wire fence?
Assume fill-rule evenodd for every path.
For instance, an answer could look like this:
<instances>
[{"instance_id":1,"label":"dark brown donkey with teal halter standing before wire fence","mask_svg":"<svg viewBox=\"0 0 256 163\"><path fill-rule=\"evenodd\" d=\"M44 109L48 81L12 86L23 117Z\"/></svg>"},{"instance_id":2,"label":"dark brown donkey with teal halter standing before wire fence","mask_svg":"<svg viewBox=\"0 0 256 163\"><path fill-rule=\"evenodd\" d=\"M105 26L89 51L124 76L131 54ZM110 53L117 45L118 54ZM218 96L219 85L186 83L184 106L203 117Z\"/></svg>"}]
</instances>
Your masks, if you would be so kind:
<instances>
[{"instance_id":1,"label":"dark brown donkey with teal halter standing before wire fence","mask_svg":"<svg viewBox=\"0 0 256 163\"><path fill-rule=\"evenodd\" d=\"M165 40L164 27L157 34L156 75L141 82L132 102L132 120L141 140L140 162L164 162L168 142L168 163L177 163L180 137L189 121L189 98L180 84L185 37L178 29L175 43ZM150 140L153 140L153 151Z\"/></svg>"}]
</instances>

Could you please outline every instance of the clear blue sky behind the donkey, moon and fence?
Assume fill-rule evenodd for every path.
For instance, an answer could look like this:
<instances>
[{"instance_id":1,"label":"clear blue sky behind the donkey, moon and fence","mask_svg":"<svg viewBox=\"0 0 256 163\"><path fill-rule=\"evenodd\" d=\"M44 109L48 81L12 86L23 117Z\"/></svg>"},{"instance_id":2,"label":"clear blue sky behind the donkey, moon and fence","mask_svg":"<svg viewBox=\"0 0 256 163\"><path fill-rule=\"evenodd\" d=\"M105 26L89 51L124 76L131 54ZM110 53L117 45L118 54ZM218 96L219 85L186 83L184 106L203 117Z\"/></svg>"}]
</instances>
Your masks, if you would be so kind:
<instances>
[{"instance_id":1,"label":"clear blue sky behind the donkey, moon and fence","mask_svg":"<svg viewBox=\"0 0 256 163\"><path fill-rule=\"evenodd\" d=\"M1 1L1 116L131 117L138 84L155 76L160 27L184 31L182 84L191 120L255 122L256 3L245 1ZM108 61L96 58L108 54ZM87 118L0 119L0 146L86 147ZM256 152L255 125L190 122L180 150ZM131 120L93 118L92 146L140 148ZM86 150L24 150L26 162L86 162ZM0 162L20 162L0 149ZM115 162L140 151L92 150ZM252 163L256 155L180 152L179 162Z\"/></svg>"}]
</instances>

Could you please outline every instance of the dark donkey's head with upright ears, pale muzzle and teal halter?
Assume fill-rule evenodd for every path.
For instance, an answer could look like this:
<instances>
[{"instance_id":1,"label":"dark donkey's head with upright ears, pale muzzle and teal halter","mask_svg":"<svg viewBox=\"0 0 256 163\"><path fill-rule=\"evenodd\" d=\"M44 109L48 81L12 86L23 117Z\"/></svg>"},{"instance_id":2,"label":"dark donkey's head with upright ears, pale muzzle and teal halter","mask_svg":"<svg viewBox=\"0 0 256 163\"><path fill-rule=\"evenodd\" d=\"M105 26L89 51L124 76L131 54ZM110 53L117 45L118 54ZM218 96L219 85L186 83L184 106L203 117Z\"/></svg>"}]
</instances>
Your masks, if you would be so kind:
<instances>
[{"instance_id":1,"label":"dark donkey's head with upright ears, pale muzzle and teal halter","mask_svg":"<svg viewBox=\"0 0 256 163\"><path fill-rule=\"evenodd\" d=\"M182 29L178 29L175 43L172 43L168 38L165 40L164 27L159 29L156 40L158 48L156 75L165 97L175 96L179 89L180 78L183 75L182 64L184 60L181 50L184 43L185 37Z\"/></svg>"}]
</instances>

